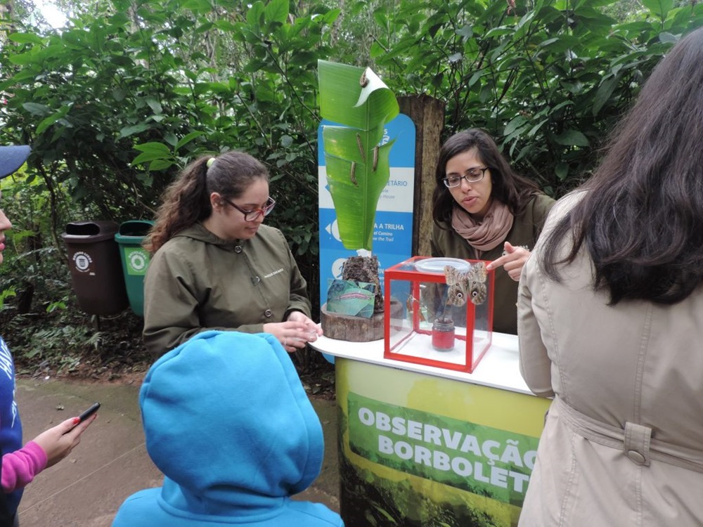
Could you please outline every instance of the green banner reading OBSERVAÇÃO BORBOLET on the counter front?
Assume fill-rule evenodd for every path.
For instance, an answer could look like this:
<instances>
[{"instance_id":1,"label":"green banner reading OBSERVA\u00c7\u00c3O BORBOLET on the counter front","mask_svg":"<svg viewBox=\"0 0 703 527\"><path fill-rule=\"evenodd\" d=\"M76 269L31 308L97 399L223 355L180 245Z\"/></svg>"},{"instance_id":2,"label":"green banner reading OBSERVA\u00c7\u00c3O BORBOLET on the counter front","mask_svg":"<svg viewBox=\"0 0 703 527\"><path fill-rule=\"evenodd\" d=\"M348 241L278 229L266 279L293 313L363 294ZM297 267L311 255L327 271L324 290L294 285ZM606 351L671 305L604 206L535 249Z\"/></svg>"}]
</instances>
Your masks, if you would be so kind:
<instances>
[{"instance_id":1,"label":"green banner reading OBSERVA\u00c7\u00c3O BORBOLET on the counter front","mask_svg":"<svg viewBox=\"0 0 703 527\"><path fill-rule=\"evenodd\" d=\"M522 507L538 438L349 391L349 448L372 462Z\"/></svg>"}]
</instances>

